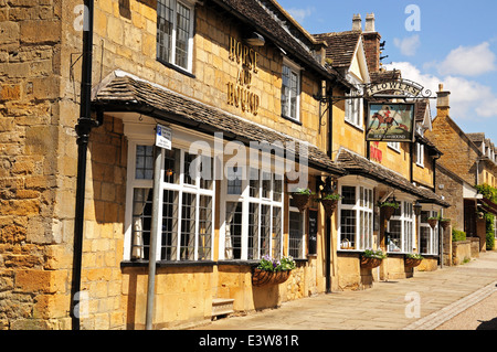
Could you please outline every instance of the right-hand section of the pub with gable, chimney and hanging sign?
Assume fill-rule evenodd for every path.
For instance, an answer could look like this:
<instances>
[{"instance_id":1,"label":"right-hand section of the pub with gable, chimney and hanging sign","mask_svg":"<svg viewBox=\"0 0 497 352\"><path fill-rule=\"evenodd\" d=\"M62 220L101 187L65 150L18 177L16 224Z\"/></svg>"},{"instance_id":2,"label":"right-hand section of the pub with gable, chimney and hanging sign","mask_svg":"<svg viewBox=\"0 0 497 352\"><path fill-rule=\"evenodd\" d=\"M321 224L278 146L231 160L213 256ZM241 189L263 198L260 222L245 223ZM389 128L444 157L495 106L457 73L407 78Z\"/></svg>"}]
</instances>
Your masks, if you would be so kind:
<instances>
[{"instance_id":1,"label":"right-hand section of the pub with gable, chimney and hanging sign","mask_svg":"<svg viewBox=\"0 0 497 352\"><path fill-rule=\"evenodd\" d=\"M438 232L431 228L427 217L448 206L435 194L436 147L423 136L431 129L426 100L416 100L415 139L405 142L368 141L368 85L399 82L400 72L381 67L381 35L376 31L374 14L352 19L352 31L315 34L327 42L330 65L353 85L350 93L335 88L331 149L335 160L348 174L338 179L338 192L343 199L337 210L337 233L334 234L338 288L364 288L373 280L406 278L413 269L404 266L404 256L421 253L423 269L436 269ZM396 200L400 204L390 221L385 221L378 203ZM422 205L421 216L413 205ZM361 253L381 248L388 253L378 269L361 267Z\"/></svg>"}]
</instances>

